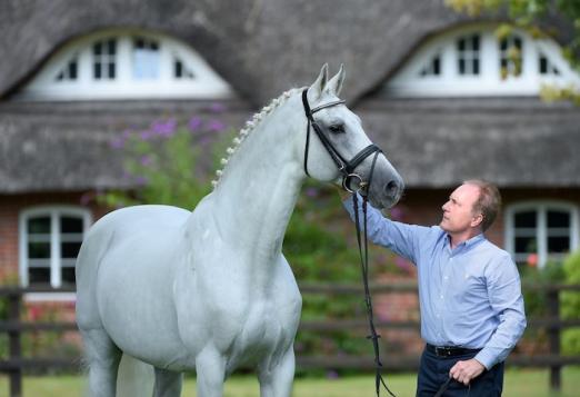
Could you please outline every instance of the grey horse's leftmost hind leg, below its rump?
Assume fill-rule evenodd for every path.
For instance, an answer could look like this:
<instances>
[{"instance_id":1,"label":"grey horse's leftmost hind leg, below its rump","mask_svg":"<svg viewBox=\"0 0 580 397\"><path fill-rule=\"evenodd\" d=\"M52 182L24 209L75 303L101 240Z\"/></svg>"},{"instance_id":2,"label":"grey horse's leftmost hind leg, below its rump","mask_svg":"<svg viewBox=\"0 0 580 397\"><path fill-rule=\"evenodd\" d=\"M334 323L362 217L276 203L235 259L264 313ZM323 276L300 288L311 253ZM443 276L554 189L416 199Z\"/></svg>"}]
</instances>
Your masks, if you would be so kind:
<instances>
[{"instance_id":1,"label":"grey horse's leftmost hind leg, below its rump","mask_svg":"<svg viewBox=\"0 0 580 397\"><path fill-rule=\"evenodd\" d=\"M91 397L114 397L121 350L103 329L81 330L89 360Z\"/></svg>"}]
</instances>

